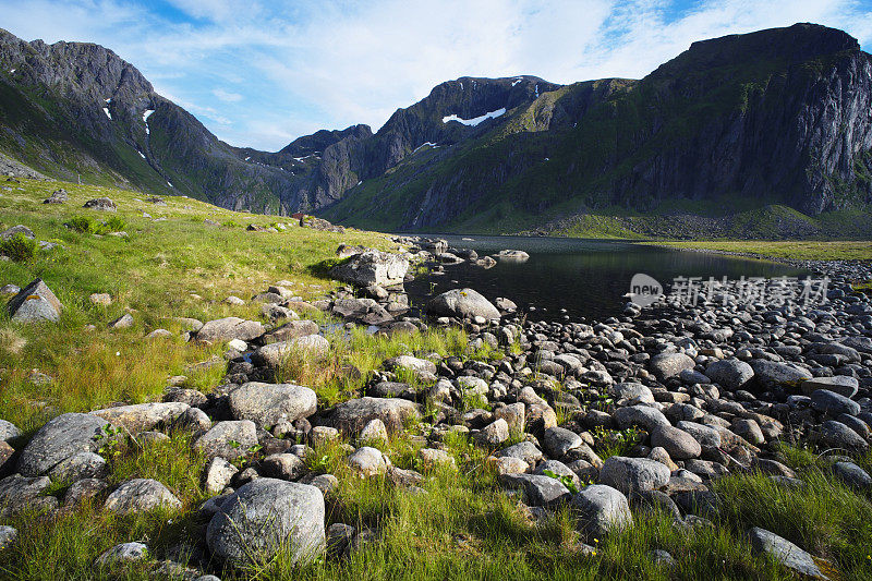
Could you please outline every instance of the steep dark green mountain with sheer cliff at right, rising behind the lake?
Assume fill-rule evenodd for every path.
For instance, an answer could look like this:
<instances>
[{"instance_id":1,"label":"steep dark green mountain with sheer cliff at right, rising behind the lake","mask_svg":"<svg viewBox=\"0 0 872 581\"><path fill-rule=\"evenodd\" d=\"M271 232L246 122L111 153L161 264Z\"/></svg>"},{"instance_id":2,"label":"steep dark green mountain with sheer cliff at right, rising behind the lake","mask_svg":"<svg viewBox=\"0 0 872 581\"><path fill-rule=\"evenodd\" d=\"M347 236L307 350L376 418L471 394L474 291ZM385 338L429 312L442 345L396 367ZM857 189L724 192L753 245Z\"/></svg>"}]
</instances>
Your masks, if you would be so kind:
<instances>
[{"instance_id":1,"label":"steep dark green mountain with sheer cliff at right, rising behind the lake","mask_svg":"<svg viewBox=\"0 0 872 581\"><path fill-rule=\"evenodd\" d=\"M871 63L847 34L809 24L694 43L641 81L545 93L326 215L395 229L511 229L669 201L865 208Z\"/></svg>"}]
</instances>

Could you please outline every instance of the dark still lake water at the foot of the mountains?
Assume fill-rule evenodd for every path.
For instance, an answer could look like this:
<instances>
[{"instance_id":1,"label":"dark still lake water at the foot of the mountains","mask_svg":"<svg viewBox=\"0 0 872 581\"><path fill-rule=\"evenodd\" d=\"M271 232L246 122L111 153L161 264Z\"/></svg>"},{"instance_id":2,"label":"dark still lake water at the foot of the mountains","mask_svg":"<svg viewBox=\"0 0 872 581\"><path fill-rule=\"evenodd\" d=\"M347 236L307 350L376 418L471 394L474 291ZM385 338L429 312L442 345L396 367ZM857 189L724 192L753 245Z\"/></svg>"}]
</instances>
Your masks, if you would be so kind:
<instances>
[{"instance_id":1,"label":"dark still lake water at the foot of the mountains","mask_svg":"<svg viewBox=\"0 0 872 581\"><path fill-rule=\"evenodd\" d=\"M428 235L436 238L436 235ZM630 291L630 279L644 273L667 288L675 277L802 276L808 273L787 265L705 254L681 252L627 242L567 238L460 237L438 235L451 247L473 249L480 256L504 249L530 254L524 263L497 261L485 270L463 263L446 265L444 275L425 275L407 283L410 301L420 306L433 294L453 288L475 289L491 300L505 296L519 307L536 307L533 319L556 319L567 311L573 320L603 319L620 314ZM469 240L472 239L472 240Z\"/></svg>"}]
</instances>

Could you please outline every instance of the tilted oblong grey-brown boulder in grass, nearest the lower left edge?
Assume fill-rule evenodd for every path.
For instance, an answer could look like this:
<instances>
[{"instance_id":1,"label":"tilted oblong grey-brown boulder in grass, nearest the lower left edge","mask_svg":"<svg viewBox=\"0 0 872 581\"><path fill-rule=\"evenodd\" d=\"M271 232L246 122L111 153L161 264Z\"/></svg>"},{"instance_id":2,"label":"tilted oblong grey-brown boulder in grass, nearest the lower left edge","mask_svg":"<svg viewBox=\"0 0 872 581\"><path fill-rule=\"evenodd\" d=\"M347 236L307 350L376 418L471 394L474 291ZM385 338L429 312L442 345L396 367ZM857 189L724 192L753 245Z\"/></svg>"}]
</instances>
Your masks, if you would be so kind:
<instances>
[{"instance_id":1,"label":"tilted oblong grey-brown boulder in grass, nearest the lower left edge","mask_svg":"<svg viewBox=\"0 0 872 581\"><path fill-rule=\"evenodd\" d=\"M96 452L109 422L89 413L64 413L44 425L19 459L19 472L38 476L77 452Z\"/></svg>"}]
</instances>

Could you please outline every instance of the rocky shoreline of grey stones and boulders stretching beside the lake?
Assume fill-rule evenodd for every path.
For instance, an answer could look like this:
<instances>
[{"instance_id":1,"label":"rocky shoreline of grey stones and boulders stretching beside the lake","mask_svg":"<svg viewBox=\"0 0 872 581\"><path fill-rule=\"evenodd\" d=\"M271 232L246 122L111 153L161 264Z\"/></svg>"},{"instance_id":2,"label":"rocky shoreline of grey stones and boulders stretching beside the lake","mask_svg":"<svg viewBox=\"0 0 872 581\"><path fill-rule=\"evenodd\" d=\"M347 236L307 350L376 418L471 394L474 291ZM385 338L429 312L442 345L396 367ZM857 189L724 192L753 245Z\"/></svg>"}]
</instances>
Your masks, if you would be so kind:
<instances>
[{"instance_id":1,"label":"rocky shoreline of grey stones and boulders stretching beside the lake","mask_svg":"<svg viewBox=\"0 0 872 581\"><path fill-rule=\"evenodd\" d=\"M178 498L154 480L110 489L100 452L112 438L145 445L179 429L191 432L206 458L202 486L216 496L201 508L204 525L191 535L189 557L165 555L155 566L199 581L216 579L209 571L222 564L244 567L252 554L269 556L287 543L305 561L325 547L329 558L343 558L378 542L377 529L327 525L338 480L307 462L325 444L342 447L359 477L420 492L427 471L459 468L446 441L467 437L486 452L480 468L494 471L533 519L568 507L590 552L594 538L632 524L630 507L657 507L687 530L714 526L720 499L712 483L726 474L759 471L802 486L782 462L780 443L816 446L833 477L872 489L872 477L850 458L869 449L872 425L872 300L850 283L872 278L871 265L801 262L831 279L827 301L813 305L628 303L602 322L557 323L532 320L510 298L492 302L455 289L433 298L421 318L404 316L402 282L413 263L444 269L489 262L439 240L397 241L412 244L411 252L340 246L330 273L353 286L323 300L304 302L281 281L265 289L252 301L263 304L266 325L190 320L191 341L227 344L225 380L210 392L173 379L161 402L66 413L22 445L21 432L0 422L0 465L11 473L0 481L0 513L50 519L86 499L118 515L172 509ZM524 259L497 259L504 257ZM13 317L22 305L39 316L59 304L41 282L10 301ZM310 387L276 383L288 358L319 364L341 340L313 320L316 311L389 336L462 328L469 344L447 358L410 351L386 359L355 397L325 407ZM468 356L481 349L505 354ZM397 468L377 447L404 432L420 470ZM62 498L46 494L57 482L70 484ZM762 529L748 534L756 550L826 577L789 541ZM0 546L14 537L0 526ZM148 558L144 544L131 542L99 561Z\"/></svg>"}]
</instances>

